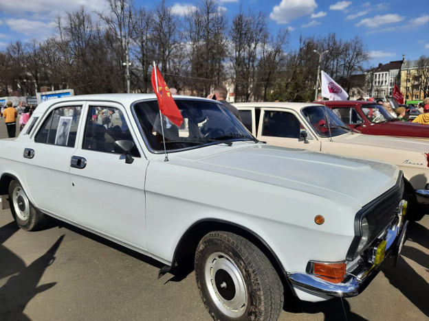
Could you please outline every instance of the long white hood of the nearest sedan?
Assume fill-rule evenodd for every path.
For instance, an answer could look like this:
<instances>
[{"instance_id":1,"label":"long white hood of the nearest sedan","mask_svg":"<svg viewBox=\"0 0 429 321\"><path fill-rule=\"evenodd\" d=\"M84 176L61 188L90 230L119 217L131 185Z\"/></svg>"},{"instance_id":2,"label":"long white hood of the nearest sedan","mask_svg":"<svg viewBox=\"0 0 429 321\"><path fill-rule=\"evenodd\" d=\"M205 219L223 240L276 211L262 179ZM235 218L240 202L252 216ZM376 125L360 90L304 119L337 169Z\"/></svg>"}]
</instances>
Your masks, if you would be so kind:
<instances>
[{"instance_id":1,"label":"long white hood of the nearest sedan","mask_svg":"<svg viewBox=\"0 0 429 321\"><path fill-rule=\"evenodd\" d=\"M360 206L393 187L399 176L395 165L377 160L333 156L271 145L234 143L170 154L177 165L320 195L350 198ZM352 183L353 182L353 183ZM263 188L263 187L261 187ZM311 196L309 196L311 197Z\"/></svg>"}]
</instances>

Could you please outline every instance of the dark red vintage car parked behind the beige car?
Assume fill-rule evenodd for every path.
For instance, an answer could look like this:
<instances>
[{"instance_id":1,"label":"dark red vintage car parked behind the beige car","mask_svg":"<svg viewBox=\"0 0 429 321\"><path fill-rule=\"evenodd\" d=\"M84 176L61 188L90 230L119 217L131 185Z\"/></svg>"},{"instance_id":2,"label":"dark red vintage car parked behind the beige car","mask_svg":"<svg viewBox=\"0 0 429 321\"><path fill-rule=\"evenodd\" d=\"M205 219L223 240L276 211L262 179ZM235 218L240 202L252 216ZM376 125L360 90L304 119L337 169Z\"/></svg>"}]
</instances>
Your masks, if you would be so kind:
<instances>
[{"instance_id":1,"label":"dark red vintage car parked behind the beige car","mask_svg":"<svg viewBox=\"0 0 429 321\"><path fill-rule=\"evenodd\" d=\"M362 134L429 138L429 126L399 121L380 104L361 100L326 100L324 104L347 126Z\"/></svg>"}]
</instances>

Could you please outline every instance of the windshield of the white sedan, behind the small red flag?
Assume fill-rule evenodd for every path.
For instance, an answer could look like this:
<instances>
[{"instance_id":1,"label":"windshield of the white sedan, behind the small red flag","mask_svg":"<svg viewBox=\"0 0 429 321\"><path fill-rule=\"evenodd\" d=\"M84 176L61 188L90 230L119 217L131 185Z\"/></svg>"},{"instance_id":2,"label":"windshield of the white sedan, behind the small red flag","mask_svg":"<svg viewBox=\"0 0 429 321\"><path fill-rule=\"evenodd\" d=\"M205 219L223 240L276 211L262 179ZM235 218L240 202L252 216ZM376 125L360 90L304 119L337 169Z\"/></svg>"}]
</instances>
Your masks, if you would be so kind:
<instances>
[{"instance_id":1,"label":"windshield of the white sedan, behind the small red flag","mask_svg":"<svg viewBox=\"0 0 429 321\"><path fill-rule=\"evenodd\" d=\"M256 141L243 124L217 102L197 99L177 99L175 102L184 117L181 126L176 126L164 116L161 125L156 100L133 105L144 139L152 152L164 151L164 141L169 152L214 143L230 145L232 141Z\"/></svg>"}]
</instances>

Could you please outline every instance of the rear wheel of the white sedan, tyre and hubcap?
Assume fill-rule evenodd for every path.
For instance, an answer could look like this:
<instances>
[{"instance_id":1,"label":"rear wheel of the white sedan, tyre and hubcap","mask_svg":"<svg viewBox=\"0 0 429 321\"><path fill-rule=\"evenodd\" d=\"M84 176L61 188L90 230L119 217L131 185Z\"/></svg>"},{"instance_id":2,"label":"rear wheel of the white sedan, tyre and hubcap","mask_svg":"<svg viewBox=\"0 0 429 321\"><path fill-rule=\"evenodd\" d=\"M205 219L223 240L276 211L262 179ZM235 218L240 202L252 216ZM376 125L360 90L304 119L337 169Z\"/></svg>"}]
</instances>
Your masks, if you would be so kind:
<instances>
[{"instance_id":1,"label":"rear wheel of the white sedan, tyre and hubcap","mask_svg":"<svg viewBox=\"0 0 429 321\"><path fill-rule=\"evenodd\" d=\"M17 180L10 182L9 204L15 222L23 230L39 230L46 225L47 217L31 204Z\"/></svg>"}]
</instances>

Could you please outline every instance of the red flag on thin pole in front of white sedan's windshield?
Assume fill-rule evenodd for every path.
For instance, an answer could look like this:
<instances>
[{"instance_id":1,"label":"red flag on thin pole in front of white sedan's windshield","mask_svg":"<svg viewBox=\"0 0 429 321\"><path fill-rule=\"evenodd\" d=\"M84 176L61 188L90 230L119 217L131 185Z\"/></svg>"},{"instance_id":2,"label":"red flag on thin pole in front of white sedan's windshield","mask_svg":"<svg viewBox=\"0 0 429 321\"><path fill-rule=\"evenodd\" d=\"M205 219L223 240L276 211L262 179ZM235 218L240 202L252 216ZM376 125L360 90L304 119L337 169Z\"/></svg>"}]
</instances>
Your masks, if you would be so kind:
<instances>
[{"instance_id":1,"label":"red flag on thin pole in front of white sedan's windshield","mask_svg":"<svg viewBox=\"0 0 429 321\"><path fill-rule=\"evenodd\" d=\"M152 69L152 88L155 91L155 95L157 95L158 106L162 115L166 116L175 125L180 126L183 122L183 117L173 97L171 97L170 89L157 66Z\"/></svg>"}]
</instances>

